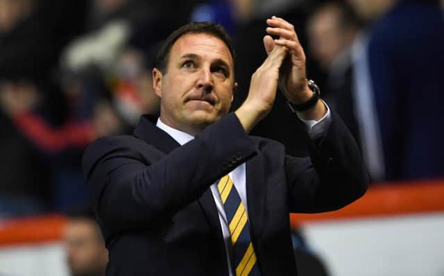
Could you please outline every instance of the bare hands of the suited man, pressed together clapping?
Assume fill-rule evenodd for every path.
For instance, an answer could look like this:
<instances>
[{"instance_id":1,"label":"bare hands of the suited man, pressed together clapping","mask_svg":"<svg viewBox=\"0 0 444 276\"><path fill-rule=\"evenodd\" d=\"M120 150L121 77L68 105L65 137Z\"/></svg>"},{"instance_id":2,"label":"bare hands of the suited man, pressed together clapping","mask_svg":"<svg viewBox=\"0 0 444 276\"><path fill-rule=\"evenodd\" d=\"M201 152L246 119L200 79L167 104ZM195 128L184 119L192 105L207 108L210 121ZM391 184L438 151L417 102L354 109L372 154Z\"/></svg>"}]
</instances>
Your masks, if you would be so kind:
<instances>
[{"instance_id":1,"label":"bare hands of the suited man, pressed together clapping","mask_svg":"<svg viewBox=\"0 0 444 276\"><path fill-rule=\"evenodd\" d=\"M264 37L264 47L268 57L251 77L246 101L235 112L247 132L270 112L278 85L291 103L305 103L313 95L307 84L304 49L294 26L275 16L267 19L266 23L268 35ZM273 40L271 35L279 38ZM299 116L318 120L326 112L323 102L318 101L310 110L300 112Z\"/></svg>"}]
</instances>

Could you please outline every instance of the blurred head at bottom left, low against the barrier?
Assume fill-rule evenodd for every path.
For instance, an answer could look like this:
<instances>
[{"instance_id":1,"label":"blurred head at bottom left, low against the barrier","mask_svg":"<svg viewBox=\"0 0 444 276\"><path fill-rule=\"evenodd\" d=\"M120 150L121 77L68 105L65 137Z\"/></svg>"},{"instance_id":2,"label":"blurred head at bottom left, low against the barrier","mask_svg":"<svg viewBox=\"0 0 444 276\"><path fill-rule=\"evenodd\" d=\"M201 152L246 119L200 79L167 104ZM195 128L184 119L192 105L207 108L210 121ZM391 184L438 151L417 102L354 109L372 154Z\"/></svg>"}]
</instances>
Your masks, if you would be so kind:
<instances>
[{"instance_id":1,"label":"blurred head at bottom left, low against the barrier","mask_svg":"<svg viewBox=\"0 0 444 276\"><path fill-rule=\"evenodd\" d=\"M64 239L71 276L105 275L108 250L92 209L78 209L68 214Z\"/></svg>"}]
</instances>

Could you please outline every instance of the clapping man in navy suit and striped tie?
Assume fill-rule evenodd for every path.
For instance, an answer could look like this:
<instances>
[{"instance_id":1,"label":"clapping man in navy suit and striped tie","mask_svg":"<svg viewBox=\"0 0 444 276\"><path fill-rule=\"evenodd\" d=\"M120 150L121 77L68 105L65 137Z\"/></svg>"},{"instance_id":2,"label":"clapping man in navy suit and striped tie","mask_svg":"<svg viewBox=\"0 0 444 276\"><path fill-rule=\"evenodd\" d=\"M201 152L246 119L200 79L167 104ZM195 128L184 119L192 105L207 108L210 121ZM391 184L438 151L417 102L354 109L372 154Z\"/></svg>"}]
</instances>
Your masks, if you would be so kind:
<instances>
[{"instance_id":1,"label":"clapping man in navy suit and striped tie","mask_svg":"<svg viewBox=\"0 0 444 276\"><path fill-rule=\"evenodd\" d=\"M296 275L289 212L339 209L364 194L357 146L307 83L293 26L278 17L267 24L280 38L264 37L268 58L238 110L228 113L237 87L228 35L216 24L187 24L153 69L156 125L144 116L135 137L101 139L86 151L108 275ZM311 159L248 137L273 106L278 80L298 116L315 125Z\"/></svg>"}]
</instances>

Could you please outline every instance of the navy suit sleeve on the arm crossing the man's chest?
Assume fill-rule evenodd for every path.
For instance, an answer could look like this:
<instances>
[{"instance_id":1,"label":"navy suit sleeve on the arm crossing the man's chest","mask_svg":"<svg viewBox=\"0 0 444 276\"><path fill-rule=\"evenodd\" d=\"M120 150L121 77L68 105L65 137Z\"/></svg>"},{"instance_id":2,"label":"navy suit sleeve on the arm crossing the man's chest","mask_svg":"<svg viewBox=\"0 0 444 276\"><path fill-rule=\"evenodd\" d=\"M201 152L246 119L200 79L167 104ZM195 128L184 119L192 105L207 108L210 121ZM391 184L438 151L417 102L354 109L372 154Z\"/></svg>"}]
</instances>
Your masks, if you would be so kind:
<instances>
[{"instance_id":1,"label":"navy suit sleeve on the arm crossing the man's chest","mask_svg":"<svg viewBox=\"0 0 444 276\"><path fill-rule=\"evenodd\" d=\"M87 148L83 171L99 223L111 232L148 230L254 154L239 120L228 114L167 155L135 137L99 139Z\"/></svg>"}]
</instances>

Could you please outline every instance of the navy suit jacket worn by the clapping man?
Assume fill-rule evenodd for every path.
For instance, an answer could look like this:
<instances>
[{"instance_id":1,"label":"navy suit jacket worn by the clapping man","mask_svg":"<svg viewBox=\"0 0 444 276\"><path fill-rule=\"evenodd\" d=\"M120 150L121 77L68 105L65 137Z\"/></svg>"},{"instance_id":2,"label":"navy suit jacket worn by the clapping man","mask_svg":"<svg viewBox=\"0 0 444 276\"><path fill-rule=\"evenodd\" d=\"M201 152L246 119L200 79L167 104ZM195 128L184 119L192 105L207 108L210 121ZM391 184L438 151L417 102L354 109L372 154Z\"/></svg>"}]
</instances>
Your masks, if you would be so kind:
<instances>
[{"instance_id":1,"label":"navy suit jacket worn by the clapping man","mask_svg":"<svg viewBox=\"0 0 444 276\"><path fill-rule=\"evenodd\" d=\"M246 135L232 113L183 146L146 116L134 136L95 141L83 169L109 250L106 275L228 275L210 186L243 162L259 269L297 275L289 213L339 209L368 184L336 114L321 146L309 147L311 157L286 156L282 144Z\"/></svg>"}]
</instances>

